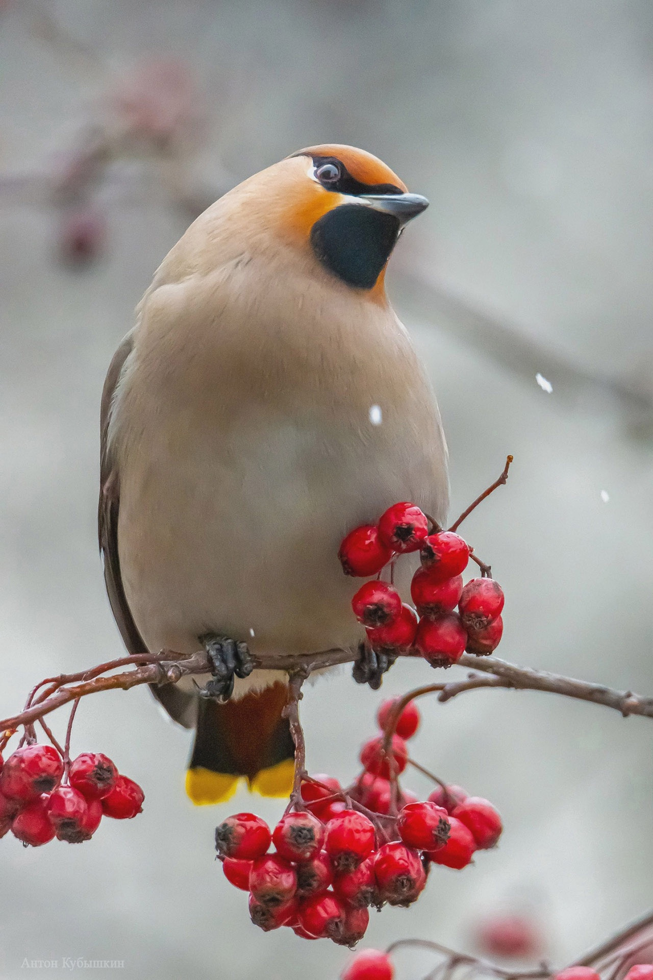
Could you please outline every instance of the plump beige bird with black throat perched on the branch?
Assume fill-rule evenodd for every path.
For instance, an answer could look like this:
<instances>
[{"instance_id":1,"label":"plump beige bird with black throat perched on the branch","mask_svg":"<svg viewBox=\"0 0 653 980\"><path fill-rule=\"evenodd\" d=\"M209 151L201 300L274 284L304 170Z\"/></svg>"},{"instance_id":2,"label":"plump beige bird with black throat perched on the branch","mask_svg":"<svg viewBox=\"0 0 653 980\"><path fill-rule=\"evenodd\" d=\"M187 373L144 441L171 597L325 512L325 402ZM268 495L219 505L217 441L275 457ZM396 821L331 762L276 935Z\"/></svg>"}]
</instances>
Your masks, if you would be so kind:
<instances>
[{"instance_id":1,"label":"plump beige bird with black throat perched on the branch","mask_svg":"<svg viewBox=\"0 0 653 980\"><path fill-rule=\"evenodd\" d=\"M293 153L193 221L108 370L107 592L130 654L209 654L205 686L153 688L195 729L197 805L243 778L288 796L288 675L253 658L360 644L345 534L397 501L443 522L442 420L385 288L399 235L428 203L367 151Z\"/></svg>"}]
</instances>

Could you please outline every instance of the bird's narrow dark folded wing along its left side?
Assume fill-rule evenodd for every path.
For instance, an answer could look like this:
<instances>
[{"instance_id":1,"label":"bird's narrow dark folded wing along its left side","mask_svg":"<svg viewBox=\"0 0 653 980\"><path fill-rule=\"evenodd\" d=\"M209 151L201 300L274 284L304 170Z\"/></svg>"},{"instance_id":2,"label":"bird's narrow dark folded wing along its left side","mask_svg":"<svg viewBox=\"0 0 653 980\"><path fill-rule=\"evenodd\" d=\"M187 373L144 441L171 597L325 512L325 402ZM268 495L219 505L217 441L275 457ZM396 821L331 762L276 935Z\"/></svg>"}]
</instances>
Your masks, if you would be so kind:
<instances>
[{"instance_id":1,"label":"bird's narrow dark folded wing along its left side","mask_svg":"<svg viewBox=\"0 0 653 980\"><path fill-rule=\"evenodd\" d=\"M104 560L105 584L117 628L130 654L145 654L148 649L138 631L127 604L120 574L120 559L117 550L117 518L120 508L120 475L117 461L109 445L109 422L112 404L125 361L133 350L133 330L131 330L117 349L109 366L105 386L102 391L100 408L100 501L98 505L98 537L100 551ZM197 706L193 695L179 690L173 684L152 687L152 692L161 702L167 713L191 728L195 724Z\"/></svg>"}]
</instances>

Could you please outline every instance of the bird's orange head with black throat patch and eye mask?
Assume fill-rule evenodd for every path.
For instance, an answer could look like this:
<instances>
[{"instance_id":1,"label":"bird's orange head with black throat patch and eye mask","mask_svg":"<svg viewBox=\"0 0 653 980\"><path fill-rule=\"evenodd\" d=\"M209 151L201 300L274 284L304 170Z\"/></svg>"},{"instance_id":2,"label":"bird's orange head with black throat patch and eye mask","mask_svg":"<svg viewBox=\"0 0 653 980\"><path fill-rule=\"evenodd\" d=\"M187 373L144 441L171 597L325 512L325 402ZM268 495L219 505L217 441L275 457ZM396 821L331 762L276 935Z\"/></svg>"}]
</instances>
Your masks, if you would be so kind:
<instances>
[{"instance_id":1,"label":"bird's orange head with black throat patch and eye mask","mask_svg":"<svg viewBox=\"0 0 653 980\"><path fill-rule=\"evenodd\" d=\"M429 204L381 160L352 146L307 147L241 188L241 204L256 211L251 227L264 226L319 274L359 291L383 291L396 239Z\"/></svg>"}]
</instances>

